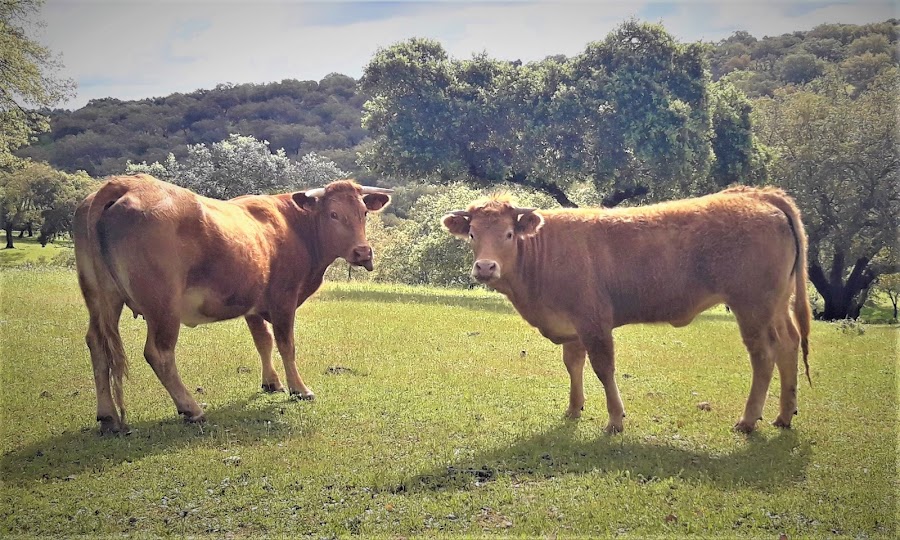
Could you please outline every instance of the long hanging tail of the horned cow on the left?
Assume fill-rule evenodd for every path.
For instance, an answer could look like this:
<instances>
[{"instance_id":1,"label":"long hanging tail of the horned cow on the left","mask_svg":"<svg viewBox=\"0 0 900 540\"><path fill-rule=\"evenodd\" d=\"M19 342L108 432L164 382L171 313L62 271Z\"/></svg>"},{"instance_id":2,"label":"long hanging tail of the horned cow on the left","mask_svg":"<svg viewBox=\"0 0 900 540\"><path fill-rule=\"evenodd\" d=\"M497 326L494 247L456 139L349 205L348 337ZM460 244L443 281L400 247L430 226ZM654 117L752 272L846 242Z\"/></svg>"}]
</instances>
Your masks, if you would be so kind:
<instances>
[{"instance_id":1,"label":"long hanging tail of the horned cow on the left","mask_svg":"<svg viewBox=\"0 0 900 540\"><path fill-rule=\"evenodd\" d=\"M119 336L119 315L115 303L118 294L126 298L125 290L116 276L110 259L107 234L101 218L104 212L128 192L128 186L115 181L107 182L76 211L75 240L78 279L92 319L94 343L106 359L110 388L118 413L125 422L125 398L123 380L128 375L128 357ZM82 240L79 245L78 240ZM81 249L79 249L81 248Z\"/></svg>"}]
</instances>

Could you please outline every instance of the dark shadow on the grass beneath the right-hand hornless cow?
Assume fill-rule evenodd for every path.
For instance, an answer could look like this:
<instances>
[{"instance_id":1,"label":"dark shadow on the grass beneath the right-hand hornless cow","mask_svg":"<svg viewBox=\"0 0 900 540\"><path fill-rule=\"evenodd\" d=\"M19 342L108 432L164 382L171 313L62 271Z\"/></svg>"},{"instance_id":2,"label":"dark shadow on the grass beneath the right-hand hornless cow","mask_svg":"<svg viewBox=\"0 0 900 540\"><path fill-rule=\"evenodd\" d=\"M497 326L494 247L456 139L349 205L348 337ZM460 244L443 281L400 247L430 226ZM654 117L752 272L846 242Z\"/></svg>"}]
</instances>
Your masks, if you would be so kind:
<instances>
[{"instance_id":1,"label":"dark shadow on the grass beneath the right-hand hornless cow","mask_svg":"<svg viewBox=\"0 0 900 540\"><path fill-rule=\"evenodd\" d=\"M773 491L801 481L812 457L809 443L790 430L779 431L770 439L753 434L730 454L679 448L663 441L625 441L621 436L581 440L575 438L575 432L575 423L566 422L507 448L379 489L392 493L467 490L501 476L527 482L600 471L623 482L679 478L711 482L725 489L751 487Z\"/></svg>"}]
</instances>

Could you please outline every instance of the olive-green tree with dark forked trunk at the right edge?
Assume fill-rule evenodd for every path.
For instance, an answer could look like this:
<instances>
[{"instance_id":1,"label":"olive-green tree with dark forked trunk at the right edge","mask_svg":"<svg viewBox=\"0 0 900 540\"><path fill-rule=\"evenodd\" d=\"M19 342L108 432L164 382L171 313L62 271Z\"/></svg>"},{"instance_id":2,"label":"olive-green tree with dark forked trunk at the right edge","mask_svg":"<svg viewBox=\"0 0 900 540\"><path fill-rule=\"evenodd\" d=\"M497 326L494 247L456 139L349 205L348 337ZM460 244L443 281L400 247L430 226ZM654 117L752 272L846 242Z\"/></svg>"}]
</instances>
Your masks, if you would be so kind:
<instances>
[{"instance_id":1,"label":"olive-green tree with dark forked trunk at the right edge","mask_svg":"<svg viewBox=\"0 0 900 540\"><path fill-rule=\"evenodd\" d=\"M760 138L778 155L773 178L804 214L809 277L826 320L859 316L884 271L873 261L896 243L898 83L895 68L852 99L845 81L832 74L818 92L785 89L756 103Z\"/></svg>"}]
</instances>

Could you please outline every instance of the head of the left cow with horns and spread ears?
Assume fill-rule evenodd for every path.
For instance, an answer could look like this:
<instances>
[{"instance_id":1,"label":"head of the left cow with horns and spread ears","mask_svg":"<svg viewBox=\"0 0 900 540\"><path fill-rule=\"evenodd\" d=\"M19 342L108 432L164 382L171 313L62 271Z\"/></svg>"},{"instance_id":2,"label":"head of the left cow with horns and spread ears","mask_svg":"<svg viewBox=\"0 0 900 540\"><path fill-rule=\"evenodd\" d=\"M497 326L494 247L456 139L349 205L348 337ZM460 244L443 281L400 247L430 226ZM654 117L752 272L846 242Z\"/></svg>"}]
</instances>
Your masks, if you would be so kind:
<instances>
[{"instance_id":1,"label":"head of the left cow with horns and spread ears","mask_svg":"<svg viewBox=\"0 0 900 540\"><path fill-rule=\"evenodd\" d=\"M366 215L387 206L390 192L339 180L324 188L294 193L291 198L315 219L323 255L343 257L371 271L373 253L366 240Z\"/></svg>"}]
</instances>

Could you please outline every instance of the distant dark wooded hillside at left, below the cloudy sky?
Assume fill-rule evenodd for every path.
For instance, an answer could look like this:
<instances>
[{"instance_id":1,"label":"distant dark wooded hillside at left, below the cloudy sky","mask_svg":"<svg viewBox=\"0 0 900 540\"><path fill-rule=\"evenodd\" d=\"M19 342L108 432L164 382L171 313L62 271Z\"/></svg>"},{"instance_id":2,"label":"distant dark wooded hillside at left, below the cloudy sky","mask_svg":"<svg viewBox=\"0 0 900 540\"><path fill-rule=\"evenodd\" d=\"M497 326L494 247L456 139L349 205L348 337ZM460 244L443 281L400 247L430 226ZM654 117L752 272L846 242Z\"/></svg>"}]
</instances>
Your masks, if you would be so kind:
<instances>
[{"instance_id":1,"label":"distant dark wooded hillside at left, below the cloudy sky","mask_svg":"<svg viewBox=\"0 0 900 540\"><path fill-rule=\"evenodd\" d=\"M127 161L184 158L190 145L230 134L268 141L298 158L317 152L356 168L353 148L366 138L356 81L331 74L321 81L220 84L212 90L139 101L92 100L76 111L50 113L52 131L21 155L92 176L118 174Z\"/></svg>"}]
</instances>

